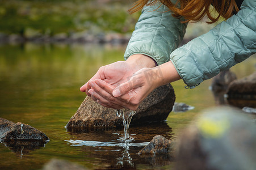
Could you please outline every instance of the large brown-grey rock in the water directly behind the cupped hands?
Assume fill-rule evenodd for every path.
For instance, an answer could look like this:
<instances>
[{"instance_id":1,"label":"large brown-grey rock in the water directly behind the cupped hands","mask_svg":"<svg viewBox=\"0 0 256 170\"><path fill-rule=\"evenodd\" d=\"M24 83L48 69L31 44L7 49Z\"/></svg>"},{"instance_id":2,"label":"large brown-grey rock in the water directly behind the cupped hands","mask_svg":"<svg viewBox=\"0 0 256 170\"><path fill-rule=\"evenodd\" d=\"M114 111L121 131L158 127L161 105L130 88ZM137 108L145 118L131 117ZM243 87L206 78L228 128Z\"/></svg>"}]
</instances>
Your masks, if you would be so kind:
<instances>
[{"instance_id":1,"label":"large brown-grey rock in the water directly behind the cupped hands","mask_svg":"<svg viewBox=\"0 0 256 170\"><path fill-rule=\"evenodd\" d=\"M166 84L152 91L139 105L131 124L146 124L166 120L175 101L175 94L171 84ZM130 112L125 110L125 113ZM123 126L121 117L116 116L116 110L99 105L91 97L86 97L77 112L70 118L66 128L69 131L82 128L115 128Z\"/></svg>"}]
</instances>

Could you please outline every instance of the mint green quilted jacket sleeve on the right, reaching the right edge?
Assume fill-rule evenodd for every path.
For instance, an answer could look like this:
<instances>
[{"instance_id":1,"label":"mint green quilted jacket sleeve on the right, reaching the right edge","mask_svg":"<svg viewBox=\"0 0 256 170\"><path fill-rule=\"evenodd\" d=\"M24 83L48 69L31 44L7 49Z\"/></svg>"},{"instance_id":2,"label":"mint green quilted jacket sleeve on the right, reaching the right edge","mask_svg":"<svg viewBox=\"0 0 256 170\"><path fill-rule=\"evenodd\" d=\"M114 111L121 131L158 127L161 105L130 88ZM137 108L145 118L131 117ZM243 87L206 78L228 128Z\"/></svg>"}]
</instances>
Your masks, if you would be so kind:
<instances>
[{"instance_id":1,"label":"mint green quilted jacket sleeve on the right, reaching the right edge","mask_svg":"<svg viewBox=\"0 0 256 170\"><path fill-rule=\"evenodd\" d=\"M256 53L256 0L211 31L174 50L170 61L188 87L229 69Z\"/></svg>"}]
</instances>

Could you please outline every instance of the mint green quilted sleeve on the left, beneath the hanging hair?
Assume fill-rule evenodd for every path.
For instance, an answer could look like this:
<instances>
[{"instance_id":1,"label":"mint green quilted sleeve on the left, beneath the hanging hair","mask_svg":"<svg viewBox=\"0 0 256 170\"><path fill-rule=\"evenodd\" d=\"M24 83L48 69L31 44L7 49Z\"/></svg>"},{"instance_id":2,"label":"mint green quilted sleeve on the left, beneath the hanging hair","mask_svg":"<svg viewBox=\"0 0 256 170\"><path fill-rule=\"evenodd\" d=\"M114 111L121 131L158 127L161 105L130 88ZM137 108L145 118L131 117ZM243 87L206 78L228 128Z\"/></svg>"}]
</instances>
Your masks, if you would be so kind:
<instances>
[{"instance_id":1,"label":"mint green quilted sleeve on the left, beneath the hanging hair","mask_svg":"<svg viewBox=\"0 0 256 170\"><path fill-rule=\"evenodd\" d=\"M127 59L133 54L145 54L158 65L167 62L171 52L181 43L186 27L187 24L174 18L165 5L157 3L145 6L135 25L124 58Z\"/></svg>"}]
</instances>

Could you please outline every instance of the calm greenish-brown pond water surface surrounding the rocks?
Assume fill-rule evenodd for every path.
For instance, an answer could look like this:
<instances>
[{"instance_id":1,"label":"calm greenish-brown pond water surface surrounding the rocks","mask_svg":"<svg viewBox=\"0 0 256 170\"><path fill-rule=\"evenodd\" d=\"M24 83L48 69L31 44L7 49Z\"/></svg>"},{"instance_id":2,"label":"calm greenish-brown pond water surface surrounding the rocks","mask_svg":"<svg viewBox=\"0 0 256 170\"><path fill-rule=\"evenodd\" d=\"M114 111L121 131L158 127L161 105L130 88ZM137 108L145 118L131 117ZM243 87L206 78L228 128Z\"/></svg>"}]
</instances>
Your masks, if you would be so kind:
<instances>
[{"instance_id":1,"label":"calm greenish-brown pond water surface surrounding the rocks","mask_svg":"<svg viewBox=\"0 0 256 170\"><path fill-rule=\"evenodd\" d=\"M40 149L27 145L36 146L31 150L26 150L26 145L0 143L0 169L41 169L51 158L66 159L89 169L170 169L171 158L147 158L137 153L155 135L173 139L174 133L190 123L198 112L214 106L208 90L211 80L194 90L184 90L182 81L172 83L176 101L195 109L171 113L160 125L131 125L128 148L121 140L123 129L83 129L75 133L64 128L85 99L79 87L100 66L123 60L124 50L125 46L98 45L0 46L0 117L29 124L51 139L45 147L38 145ZM254 72L254 63L256 58L251 57L232 69L242 78ZM17 154L9 148L22 159L16 159Z\"/></svg>"}]
</instances>

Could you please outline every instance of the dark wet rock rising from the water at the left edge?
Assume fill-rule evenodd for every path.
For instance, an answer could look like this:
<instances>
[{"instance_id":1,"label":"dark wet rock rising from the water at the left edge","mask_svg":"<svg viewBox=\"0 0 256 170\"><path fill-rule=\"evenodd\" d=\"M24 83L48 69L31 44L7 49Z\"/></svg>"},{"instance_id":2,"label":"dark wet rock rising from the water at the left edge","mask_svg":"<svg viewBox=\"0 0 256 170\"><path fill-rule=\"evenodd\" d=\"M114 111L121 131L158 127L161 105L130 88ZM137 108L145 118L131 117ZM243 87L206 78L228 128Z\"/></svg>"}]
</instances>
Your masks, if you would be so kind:
<instances>
[{"instance_id":1,"label":"dark wet rock rising from the water at the left edge","mask_svg":"<svg viewBox=\"0 0 256 170\"><path fill-rule=\"evenodd\" d=\"M47 141L49 138L40 130L20 122L14 123L0 118L0 140L10 142L16 140Z\"/></svg>"}]
</instances>

